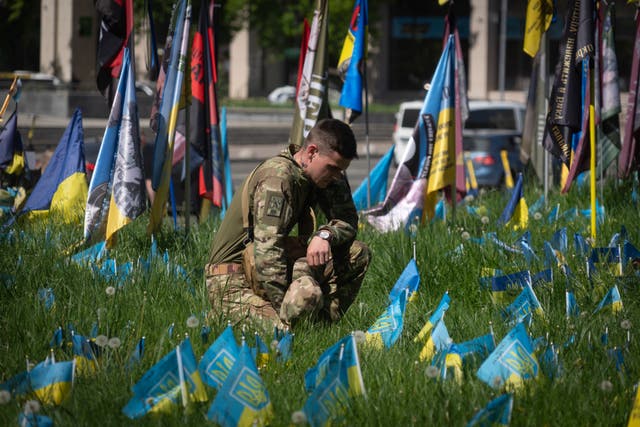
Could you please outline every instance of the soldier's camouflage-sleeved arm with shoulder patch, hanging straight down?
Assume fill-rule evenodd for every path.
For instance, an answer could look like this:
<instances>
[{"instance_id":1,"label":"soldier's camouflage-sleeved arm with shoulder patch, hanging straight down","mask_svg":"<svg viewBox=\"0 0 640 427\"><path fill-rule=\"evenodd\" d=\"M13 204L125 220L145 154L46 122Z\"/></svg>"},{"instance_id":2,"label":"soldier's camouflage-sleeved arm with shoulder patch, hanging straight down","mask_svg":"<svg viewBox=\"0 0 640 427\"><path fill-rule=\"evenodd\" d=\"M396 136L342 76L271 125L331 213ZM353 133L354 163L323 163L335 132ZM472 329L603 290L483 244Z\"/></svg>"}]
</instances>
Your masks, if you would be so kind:
<instances>
[{"instance_id":1,"label":"soldier's camouflage-sleeved arm with shoulder patch, hanging straight down","mask_svg":"<svg viewBox=\"0 0 640 427\"><path fill-rule=\"evenodd\" d=\"M256 275L276 311L288 285L285 239L292 208L285 187L282 178L270 176L258 182L253 195Z\"/></svg>"}]
</instances>

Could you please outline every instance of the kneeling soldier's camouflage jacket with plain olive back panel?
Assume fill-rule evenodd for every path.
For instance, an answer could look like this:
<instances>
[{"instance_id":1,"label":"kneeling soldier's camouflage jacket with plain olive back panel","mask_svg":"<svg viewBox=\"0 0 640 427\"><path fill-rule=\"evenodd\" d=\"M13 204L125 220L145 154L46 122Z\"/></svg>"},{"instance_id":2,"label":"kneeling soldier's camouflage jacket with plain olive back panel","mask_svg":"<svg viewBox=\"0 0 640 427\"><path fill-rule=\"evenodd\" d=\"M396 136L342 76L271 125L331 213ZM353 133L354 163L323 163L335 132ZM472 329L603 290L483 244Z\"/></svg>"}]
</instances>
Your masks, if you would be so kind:
<instances>
[{"instance_id":1,"label":"kneeling soldier's camouflage jacket with plain olive back panel","mask_svg":"<svg viewBox=\"0 0 640 427\"><path fill-rule=\"evenodd\" d=\"M328 222L319 228L331 232L332 247L355 239L358 215L346 177L325 189L317 188L289 150L260 164L248 179L236 192L214 237L209 262L242 262L247 233L243 229L241 199L242 189L249 185L257 279L278 309L289 285L285 241L309 207L325 214Z\"/></svg>"}]
</instances>

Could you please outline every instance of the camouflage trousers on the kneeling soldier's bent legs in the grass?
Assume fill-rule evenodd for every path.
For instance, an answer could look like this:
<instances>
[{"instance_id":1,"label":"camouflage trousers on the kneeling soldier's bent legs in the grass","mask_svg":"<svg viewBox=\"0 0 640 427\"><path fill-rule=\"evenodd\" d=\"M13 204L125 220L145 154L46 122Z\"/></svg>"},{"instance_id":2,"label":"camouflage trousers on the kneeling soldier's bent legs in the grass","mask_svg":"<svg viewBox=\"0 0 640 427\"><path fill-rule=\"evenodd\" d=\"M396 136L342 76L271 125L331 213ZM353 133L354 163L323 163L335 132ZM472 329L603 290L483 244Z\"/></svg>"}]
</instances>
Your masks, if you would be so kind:
<instances>
[{"instance_id":1,"label":"camouflage trousers on the kneeling soldier's bent legs in the grass","mask_svg":"<svg viewBox=\"0 0 640 427\"><path fill-rule=\"evenodd\" d=\"M212 315L264 328L291 326L303 318L337 321L358 295L370 258L367 245L356 240L334 249L333 259L322 267L310 267L305 257L288 260L292 281L278 310L254 292L244 272L209 276Z\"/></svg>"}]
</instances>

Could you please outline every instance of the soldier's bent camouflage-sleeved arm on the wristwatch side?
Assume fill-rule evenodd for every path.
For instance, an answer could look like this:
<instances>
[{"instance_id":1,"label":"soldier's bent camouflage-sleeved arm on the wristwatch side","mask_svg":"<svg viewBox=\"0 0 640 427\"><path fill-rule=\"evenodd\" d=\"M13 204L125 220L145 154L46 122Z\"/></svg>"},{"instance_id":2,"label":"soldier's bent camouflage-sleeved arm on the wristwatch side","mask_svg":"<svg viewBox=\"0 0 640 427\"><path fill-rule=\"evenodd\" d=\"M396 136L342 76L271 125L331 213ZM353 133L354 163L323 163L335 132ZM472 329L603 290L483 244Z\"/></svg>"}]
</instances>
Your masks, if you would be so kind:
<instances>
[{"instance_id":1,"label":"soldier's bent camouflage-sleeved arm on the wristwatch side","mask_svg":"<svg viewBox=\"0 0 640 427\"><path fill-rule=\"evenodd\" d=\"M319 192L318 206L328 220L327 224L319 228L329 230L332 246L339 246L356 238L358 213L345 177Z\"/></svg>"}]
</instances>

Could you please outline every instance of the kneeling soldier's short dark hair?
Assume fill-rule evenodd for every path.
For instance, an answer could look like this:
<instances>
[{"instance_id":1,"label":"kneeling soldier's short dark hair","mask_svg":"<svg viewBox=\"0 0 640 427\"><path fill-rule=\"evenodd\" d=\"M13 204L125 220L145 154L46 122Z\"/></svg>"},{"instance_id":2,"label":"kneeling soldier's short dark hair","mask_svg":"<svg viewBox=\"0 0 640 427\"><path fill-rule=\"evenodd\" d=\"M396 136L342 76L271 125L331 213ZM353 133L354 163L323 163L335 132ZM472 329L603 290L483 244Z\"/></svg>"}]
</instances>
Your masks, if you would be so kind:
<instances>
[{"instance_id":1,"label":"kneeling soldier's short dark hair","mask_svg":"<svg viewBox=\"0 0 640 427\"><path fill-rule=\"evenodd\" d=\"M335 151L345 159L357 159L356 137L351 126L337 119L323 119L309 131L305 147L314 143L322 150Z\"/></svg>"}]
</instances>

